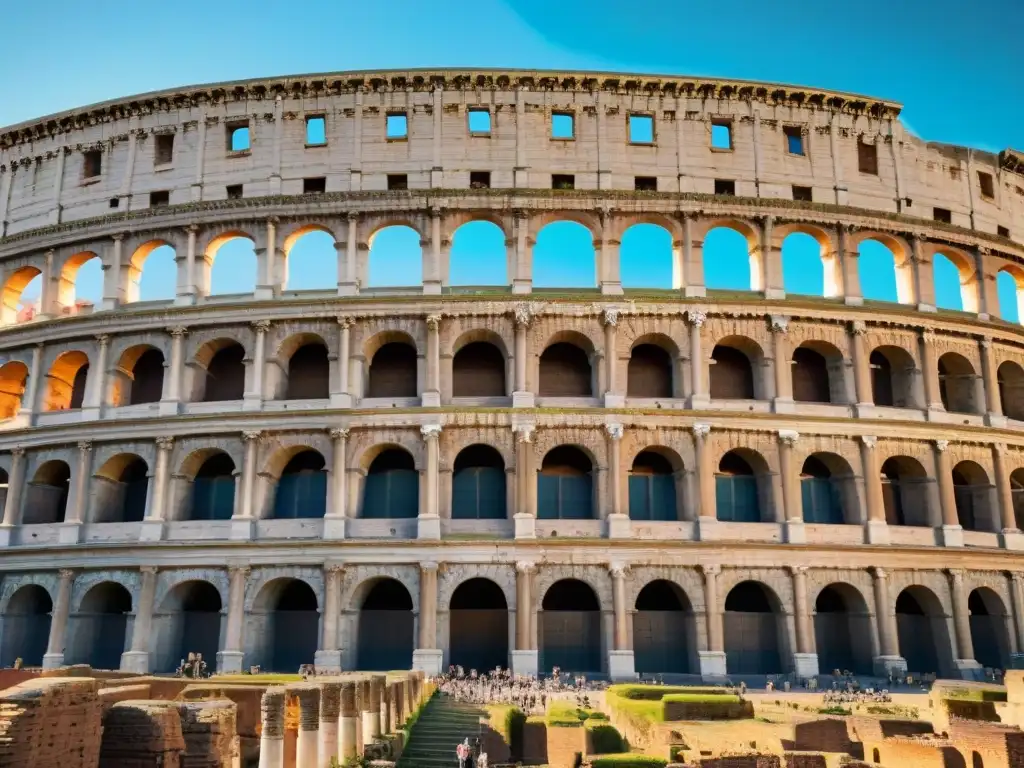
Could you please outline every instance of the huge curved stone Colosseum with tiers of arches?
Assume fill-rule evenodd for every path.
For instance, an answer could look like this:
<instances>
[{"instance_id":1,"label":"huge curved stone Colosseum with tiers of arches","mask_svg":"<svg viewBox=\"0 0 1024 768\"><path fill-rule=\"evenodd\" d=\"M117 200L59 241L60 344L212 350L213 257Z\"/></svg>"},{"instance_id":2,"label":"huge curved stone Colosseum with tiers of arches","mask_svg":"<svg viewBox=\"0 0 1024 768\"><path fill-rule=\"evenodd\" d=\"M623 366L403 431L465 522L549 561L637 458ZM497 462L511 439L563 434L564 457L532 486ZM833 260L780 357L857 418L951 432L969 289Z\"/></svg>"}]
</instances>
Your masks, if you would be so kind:
<instances>
[{"instance_id":1,"label":"huge curved stone Colosseum with tiers of arches","mask_svg":"<svg viewBox=\"0 0 1024 768\"><path fill-rule=\"evenodd\" d=\"M776 84L438 70L3 129L0 666L1024 662L1024 154L930 143L899 114ZM460 285L478 224L504 278ZM588 286L535 281L563 224ZM397 227L412 287L375 264ZM624 281L634 227L664 237L670 284ZM746 291L706 283L723 231ZM296 289L314 232L326 282ZM801 237L818 296L786 291ZM211 282L233 241L242 294ZM145 299L161 251L176 281Z\"/></svg>"}]
</instances>

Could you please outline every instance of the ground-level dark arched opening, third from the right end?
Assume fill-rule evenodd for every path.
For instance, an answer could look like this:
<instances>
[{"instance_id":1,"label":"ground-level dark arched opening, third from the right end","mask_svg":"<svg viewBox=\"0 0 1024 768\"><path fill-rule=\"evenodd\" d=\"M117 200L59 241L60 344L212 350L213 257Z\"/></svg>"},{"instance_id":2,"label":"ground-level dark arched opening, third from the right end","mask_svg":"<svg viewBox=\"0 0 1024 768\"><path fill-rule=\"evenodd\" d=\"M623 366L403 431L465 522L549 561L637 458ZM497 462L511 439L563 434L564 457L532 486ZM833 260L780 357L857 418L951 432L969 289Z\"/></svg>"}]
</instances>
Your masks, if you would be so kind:
<instances>
[{"instance_id":1,"label":"ground-level dark arched opening, third from the right end","mask_svg":"<svg viewBox=\"0 0 1024 768\"><path fill-rule=\"evenodd\" d=\"M814 601L818 668L871 674L871 616L864 598L848 584L829 584Z\"/></svg>"}]
</instances>

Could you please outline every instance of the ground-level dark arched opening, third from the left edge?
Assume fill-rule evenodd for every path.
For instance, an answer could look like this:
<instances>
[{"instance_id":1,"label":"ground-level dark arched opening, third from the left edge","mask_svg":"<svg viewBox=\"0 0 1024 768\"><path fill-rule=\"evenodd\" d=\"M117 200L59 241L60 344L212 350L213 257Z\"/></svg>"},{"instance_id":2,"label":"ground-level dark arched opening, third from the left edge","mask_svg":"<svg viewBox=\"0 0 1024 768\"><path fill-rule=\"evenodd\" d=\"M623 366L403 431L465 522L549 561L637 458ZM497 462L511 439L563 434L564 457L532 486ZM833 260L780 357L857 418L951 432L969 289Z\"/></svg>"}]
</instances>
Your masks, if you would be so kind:
<instances>
[{"instance_id":1,"label":"ground-level dark arched opening, third from the left edge","mask_svg":"<svg viewBox=\"0 0 1024 768\"><path fill-rule=\"evenodd\" d=\"M154 668L174 672L189 653L201 653L212 671L220 647L220 593L209 582L182 582L160 606L155 633L161 651Z\"/></svg>"}]
</instances>

